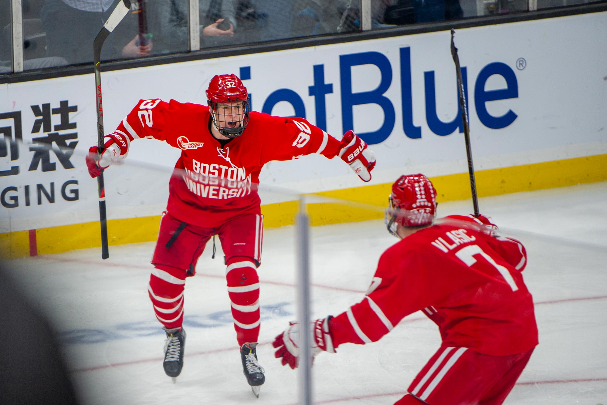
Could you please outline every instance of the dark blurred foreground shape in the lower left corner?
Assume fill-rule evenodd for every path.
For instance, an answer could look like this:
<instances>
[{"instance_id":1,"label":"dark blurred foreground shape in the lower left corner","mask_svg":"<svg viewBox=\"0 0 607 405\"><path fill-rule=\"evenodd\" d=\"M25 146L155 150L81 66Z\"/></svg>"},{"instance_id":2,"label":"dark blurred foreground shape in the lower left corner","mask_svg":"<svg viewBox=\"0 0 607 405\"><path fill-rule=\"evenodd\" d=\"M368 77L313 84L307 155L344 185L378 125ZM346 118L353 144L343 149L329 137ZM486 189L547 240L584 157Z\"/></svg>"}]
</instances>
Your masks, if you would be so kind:
<instances>
[{"instance_id":1,"label":"dark blurred foreground shape in the lower left corner","mask_svg":"<svg viewBox=\"0 0 607 405\"><path fill-rule=\"evenodd\" d=\"M77 404L52 329L0 268L0 404Z\"/></svg>"}]
</instances>

